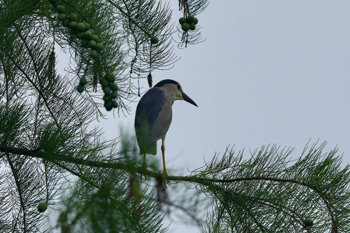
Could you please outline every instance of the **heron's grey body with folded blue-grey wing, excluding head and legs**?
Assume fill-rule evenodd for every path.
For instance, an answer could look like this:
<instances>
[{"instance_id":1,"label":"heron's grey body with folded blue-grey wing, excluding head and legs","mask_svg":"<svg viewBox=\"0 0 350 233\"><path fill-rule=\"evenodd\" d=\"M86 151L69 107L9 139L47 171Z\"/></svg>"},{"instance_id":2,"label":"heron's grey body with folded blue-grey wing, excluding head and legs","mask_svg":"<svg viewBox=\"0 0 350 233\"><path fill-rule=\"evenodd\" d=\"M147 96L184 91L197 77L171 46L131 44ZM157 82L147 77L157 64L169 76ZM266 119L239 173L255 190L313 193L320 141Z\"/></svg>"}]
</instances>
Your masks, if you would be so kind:
<instances>
[{"instance_id":1,"label":"heron's grey body with folded blue-grey wing, excluding head and legs","mask_svg":"<svg viewBox=\"0 0 350 233\"><path fill-rule=\"evenodd\" d=\"M156 154L156 143L168 131L172 119L172 106L167 95L153 87L142 96L135 113L136 138L144 153ZM152 151L148 151L147 148ZM155 151L154 151L155 150Z\"/></svg>"}]
</instances>

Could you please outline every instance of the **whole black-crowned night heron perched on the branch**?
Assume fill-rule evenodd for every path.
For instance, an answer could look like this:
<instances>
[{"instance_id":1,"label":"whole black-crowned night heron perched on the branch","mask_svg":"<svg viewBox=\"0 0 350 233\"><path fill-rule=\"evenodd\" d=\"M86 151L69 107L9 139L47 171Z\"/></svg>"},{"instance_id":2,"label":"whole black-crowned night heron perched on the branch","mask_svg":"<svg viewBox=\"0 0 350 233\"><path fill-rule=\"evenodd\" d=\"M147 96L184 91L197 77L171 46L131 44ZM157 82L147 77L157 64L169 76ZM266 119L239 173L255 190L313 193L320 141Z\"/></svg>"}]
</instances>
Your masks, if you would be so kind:
<instances>
[{"instance_id":1,"label":"whole black-crowned night heron perched on the branch","mask_svg":"<svg viewBox=\"0 0 350 233\"><path fill-rule=\"evenodd\" d=\"M145 176L147 175L146 154L155 155L157 153L157 141L159 139L162 139L161 149L163 154L163 173L161 175L163 177L168 175L165 167L164 140L170 123L172 123L172 105L175 100L184 100L198 107L182 91L180 83L170 79L162 80L149 89L137 105L135 132L140 147L140 155L144 155L142 167L145 169Z\"/></svg>"}]
</instances>

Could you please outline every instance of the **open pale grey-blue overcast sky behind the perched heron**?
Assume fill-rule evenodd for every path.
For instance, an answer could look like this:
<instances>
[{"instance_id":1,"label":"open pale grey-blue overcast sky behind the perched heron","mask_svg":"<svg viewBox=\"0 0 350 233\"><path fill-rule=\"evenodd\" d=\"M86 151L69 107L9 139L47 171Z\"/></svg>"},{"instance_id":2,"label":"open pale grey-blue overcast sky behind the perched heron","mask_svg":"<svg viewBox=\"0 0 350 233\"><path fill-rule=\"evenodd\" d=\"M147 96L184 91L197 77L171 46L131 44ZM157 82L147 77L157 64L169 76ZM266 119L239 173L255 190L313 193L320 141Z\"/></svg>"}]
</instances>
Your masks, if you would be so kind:
<instances>
[{"instance_id":1,"label":"open pale grey-blue overcast sky behind the perched heron","mask_svg":"<svg viewBox=\"0 0 350 233\"><path fill-rule=\"evenodd\" d=\"M177 22L177 1L170 3ZM173 105L168 174L188 175L204 165L203 156L211 160L234 144L247 158L249 148L266 144L295 147L298 158L310 138L311 145L328 141L324 153L337 146L343 166L350 163L349 9L348 0L211 1L196 16L207 40L176 48L175 67L152 73L154 85L176 80L198 105ZM146 90L147 80L140 85ZM96 122L103 138L118 137L121 125L134 134L136 106L128 117L108 112L108 120ZM200 229L174 221L168 232L179 231Z\"/></svg>"}]
</instances>

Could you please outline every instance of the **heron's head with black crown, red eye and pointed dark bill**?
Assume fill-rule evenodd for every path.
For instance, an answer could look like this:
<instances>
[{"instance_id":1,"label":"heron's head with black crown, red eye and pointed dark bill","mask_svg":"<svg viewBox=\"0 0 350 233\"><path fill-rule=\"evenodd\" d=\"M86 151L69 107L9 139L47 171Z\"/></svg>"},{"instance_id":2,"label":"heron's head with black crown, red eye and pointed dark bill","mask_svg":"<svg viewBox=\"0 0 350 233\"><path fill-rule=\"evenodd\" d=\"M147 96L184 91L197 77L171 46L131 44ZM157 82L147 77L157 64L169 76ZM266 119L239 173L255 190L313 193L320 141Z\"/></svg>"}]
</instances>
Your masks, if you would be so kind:
<instances>
[{"instance_id":1,"label":"heron's head with black crown, red eye and pointed dark bill","mask_svg":"<svg viewBox=\"0 0 350 233\"><path fill-rule=\"evenodd\" d=\"M158 82L154 87L162 89L170 98L174 98L174 100L184 100L198 107L198 105L183 92L180 83L174 80L162 80Z\"/></svg>"}]
</instances>

